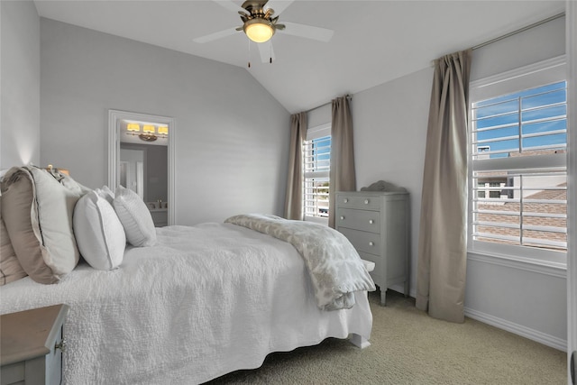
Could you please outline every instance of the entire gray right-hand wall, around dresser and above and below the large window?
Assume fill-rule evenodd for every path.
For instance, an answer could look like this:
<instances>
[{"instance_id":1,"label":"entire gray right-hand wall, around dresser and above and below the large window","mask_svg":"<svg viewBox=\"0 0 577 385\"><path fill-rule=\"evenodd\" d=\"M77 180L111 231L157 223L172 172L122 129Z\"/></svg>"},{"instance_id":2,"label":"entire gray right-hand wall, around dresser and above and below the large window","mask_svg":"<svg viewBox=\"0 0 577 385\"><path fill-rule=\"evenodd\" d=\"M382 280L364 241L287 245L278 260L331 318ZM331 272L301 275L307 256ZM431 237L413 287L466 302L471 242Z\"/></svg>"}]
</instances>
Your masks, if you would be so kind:
<instances>
[{"instance_id":1,"label":"entire gray right-hand wall, around dresser and above and below the large window","mask_svg":"<svg viewBox=\"0 0 577 385\"><path fill-rule=\"evenodd\" d=\"M472 79L563 52L564 21L560 19L475 50ZM423 69L353 96L357 188L384 179L408 188L410 193L412 296L417 289L419 217L432 80L433 69ZM465 314L563 349L565 277L564 270L469 255Z\"/></svg>"}]
</instances>

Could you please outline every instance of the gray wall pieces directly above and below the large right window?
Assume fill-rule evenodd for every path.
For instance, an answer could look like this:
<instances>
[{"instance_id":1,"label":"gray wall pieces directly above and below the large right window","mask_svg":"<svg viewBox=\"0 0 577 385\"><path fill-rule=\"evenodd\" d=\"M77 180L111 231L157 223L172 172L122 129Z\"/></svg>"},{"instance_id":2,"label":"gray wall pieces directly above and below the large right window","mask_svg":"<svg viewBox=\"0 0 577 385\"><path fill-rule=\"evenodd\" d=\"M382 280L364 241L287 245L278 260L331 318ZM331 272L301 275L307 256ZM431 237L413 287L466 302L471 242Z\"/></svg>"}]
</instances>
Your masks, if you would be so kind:
<instances>
[{"instance_id":1,"label":"gray wall pieces directly above and below the large right window","mask_svg":"<svg viewBox=\"0 0 577 385\"><path fill-rule=\"evenodd\" d=\"M472 80L564 53L563 17L475 50ZM564 350L566 274L564 269L469 253L465 314Z\"/></svg>"}]
</instances>

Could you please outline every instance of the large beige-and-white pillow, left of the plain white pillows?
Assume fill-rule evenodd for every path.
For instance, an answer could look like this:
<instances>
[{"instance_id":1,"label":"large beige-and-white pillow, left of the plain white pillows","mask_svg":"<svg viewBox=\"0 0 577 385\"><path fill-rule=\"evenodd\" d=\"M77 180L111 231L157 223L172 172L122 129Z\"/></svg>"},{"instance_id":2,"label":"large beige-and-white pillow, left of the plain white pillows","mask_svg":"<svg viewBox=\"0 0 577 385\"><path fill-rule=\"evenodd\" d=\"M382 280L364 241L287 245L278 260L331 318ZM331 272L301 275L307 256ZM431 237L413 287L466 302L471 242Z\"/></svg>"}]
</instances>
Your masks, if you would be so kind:
<instances>
[{"instance_id":1,"label":"large beige-and-white pillow, left of the plain white pillows","mask_svg":"<svg viewBox=\"0 0 577 385\"><path fill-rule=\"evenodd\" d=\"M72 215L84 188L46 170L12 168L3 183L2 215L23 270L40 283L58 282L79 260Z\"/></svg>"}]
</instances>

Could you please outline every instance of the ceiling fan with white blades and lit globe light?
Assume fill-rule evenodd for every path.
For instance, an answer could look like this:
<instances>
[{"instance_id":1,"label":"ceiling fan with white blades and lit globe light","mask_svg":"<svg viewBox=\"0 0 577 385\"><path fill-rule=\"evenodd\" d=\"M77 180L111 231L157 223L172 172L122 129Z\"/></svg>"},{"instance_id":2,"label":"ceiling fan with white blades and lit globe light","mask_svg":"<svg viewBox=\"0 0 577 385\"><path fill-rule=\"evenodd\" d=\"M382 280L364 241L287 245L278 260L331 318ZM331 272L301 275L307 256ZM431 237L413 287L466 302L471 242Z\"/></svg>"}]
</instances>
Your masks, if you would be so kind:
<instances>
[{"instance_id":1,"label":"ceiling fan with white blades and lit globe light","mask_svg":"<svg viewBox=\"0 0 577 385\"><path fill-rule=\"evenodd\" d=\"M316 41L330 41L333 37L334 31L326 28L314 27L311 25L289 23L278 23L279 14L284 11L294 0L274 2L277 12L270 6L266 6L269 0L247 0L239 7L234 4L232 0L213 0L218 5L224 8L238 12L241 16L243 25L237 28L228 28L224 31L214 32L205 36L193 39L197 43L206 43L208 41L215 41L224 37L233 35L236 32L243 31L246 36L255 41L259 51L261 52L261 60L263 62L272 62L274 52L270 38L275 32L284 32L289 35L313 39ZM268 44L263 44L268 42ZM251 64L249 63L249 67Z\"/></svg>"}]
</instances>

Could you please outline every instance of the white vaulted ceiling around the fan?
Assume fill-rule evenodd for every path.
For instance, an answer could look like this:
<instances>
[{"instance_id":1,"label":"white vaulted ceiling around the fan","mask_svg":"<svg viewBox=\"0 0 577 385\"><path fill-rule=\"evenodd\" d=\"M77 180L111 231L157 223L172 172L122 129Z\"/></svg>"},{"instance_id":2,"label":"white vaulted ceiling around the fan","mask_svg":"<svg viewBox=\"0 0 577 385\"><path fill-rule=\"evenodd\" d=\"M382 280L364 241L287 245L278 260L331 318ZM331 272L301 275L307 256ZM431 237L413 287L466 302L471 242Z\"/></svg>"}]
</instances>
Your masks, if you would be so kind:
<instances>
[{"instance_id":1,"label":"white vaulted ceiling around the fan","mask_svg":"<svg viewBox=\"0 0 577 385\"><path fill-rule=\"evenodd\" d=\"M270 0L269 5L281 9L287 5L282 3ZM296 0L280 14L279 23L324 27L334 30L334 36L320 42L277 32L272 38L276 60L269 64L261 63L255 43L249 53L243 32L204 44L193 41L242 25L238 14L215 1L36 0L35 4L42 17L242 67L290 113L425 69L444 54L564 10L564 1L546 0Z\"/></svg>"}]
</instances>

